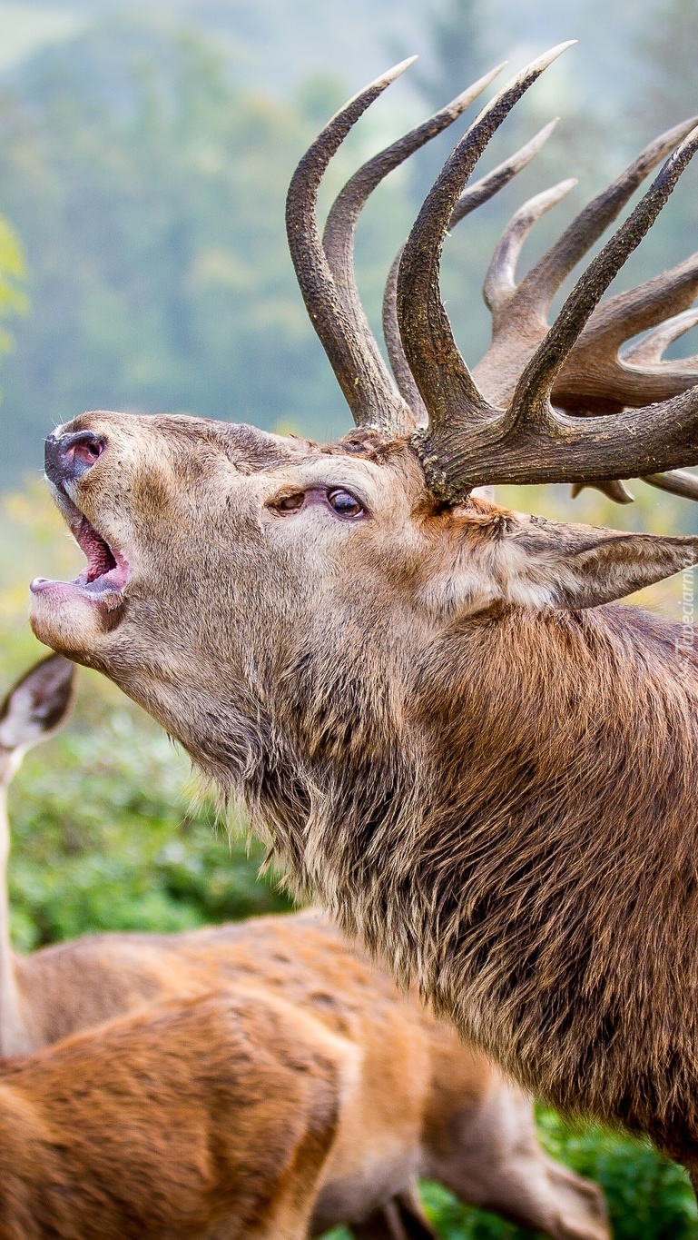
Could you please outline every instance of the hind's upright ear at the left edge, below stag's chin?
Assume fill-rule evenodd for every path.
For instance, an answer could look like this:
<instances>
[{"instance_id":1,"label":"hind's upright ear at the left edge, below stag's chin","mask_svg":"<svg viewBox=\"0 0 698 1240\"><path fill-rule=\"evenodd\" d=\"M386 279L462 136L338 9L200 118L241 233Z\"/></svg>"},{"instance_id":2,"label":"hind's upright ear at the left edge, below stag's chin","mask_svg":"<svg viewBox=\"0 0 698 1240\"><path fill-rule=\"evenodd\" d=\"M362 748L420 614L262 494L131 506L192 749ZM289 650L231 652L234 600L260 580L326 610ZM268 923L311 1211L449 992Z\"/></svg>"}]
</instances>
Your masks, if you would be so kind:
<instances>
[{"instance_id":1,"label":"hind's upright ear at the left edge, below stag's chin","mask_svg":"<svg viewBox=\"0 0 698 1240\"><path fill-rule=\"evenodd\" d=\"M74 663L62 655L36 663L0 707L0 744L27 749L56 732L71 708L74 678Z\"/></svg>"}]
</instances>

